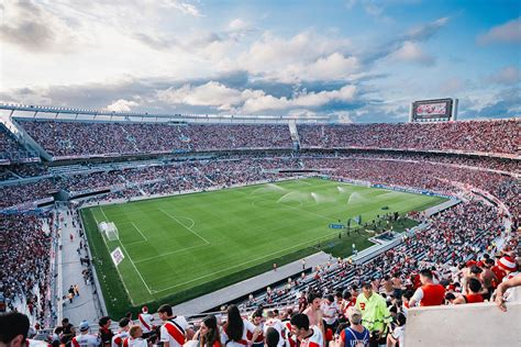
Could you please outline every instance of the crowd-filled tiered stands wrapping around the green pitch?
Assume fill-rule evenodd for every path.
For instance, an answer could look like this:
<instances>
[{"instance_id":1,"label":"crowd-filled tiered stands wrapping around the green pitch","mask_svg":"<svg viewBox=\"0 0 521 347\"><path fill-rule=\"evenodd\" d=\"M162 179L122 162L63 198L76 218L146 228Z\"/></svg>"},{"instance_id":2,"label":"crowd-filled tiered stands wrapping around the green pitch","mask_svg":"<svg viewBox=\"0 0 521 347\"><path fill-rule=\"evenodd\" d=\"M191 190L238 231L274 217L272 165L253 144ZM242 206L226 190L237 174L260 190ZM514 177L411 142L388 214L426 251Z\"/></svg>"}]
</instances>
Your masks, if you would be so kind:
<instances>
[{"instance_id":1,"label":"crowd-filled tiered stands wrapping around the green pitch","mask_svg":"<svg viewBox=\"0 0 521 347\"><path fill-rule=\"evenodd\" d=\"M56 192L64 192L71 199L86 195L79 200L86 203L247 184L304 171L334 179L465 197L461 204L441 213L429 217L415 215L423 222L421 228L368 261L331 259L311 273L266 283L269 286L266 290L248 299L237 298L241 313L252 321L254 316L258 317L258 313L253 312L259 305L269 307L260 309L260 312L269 311L262 323L266 328L264 336L268 336L267 327L274 326L279 327L281 339L289 338L291 329L288 326L297 322L289 321L290 310L304 312L311 320L319 312L331 315L325 324L318 320L320 332L317 334L322 334L326 342L345 338L341 337L342 329L336 335L335 329L342 323L356 321L359 313L350 309L356 307L362 311L363 325L372 329L375 342L378 339L374 334L376 328L367 323L369 309L363 305L367 298L364 295L370 291L372 295L377 295L375 298L383 298L388 310L383 320L390 322L391 316L395 317L390 328L378 336L380 343L392 345L403 338L403 325L409 324L398 316L410 320L410 312L417 310L409 305L411 300L421 302L424 299L426 302L425 286L442 284L441 303L452 305L457 298L465 298L465 302L494 301L492 293L502 278L520 276L519 264L516 264L519 245L516 232L521 204L518 181L521 169L517 157L519 120L298 125L302 148L299 153L292 152L286 125L18 122L58 160L174 155L168 159L158 156L146 163L112 163L118 161L113 158L109 163L71 161L64 167L9 165L1 169L0 287L8 299L9 311L25 313L33 327L56 327L56 307L49 298L54 298L51 293L55 276L52 259L57 246L53 235L59 231L51 213L37 210L38 202L52 201ZM2 155L20 149L8 132L0 128ZM358 149L330 150L333 148ZM241 153L240 149L247 150ZM200 152L212 150L223 153L198 157ZM32 210L37 216L19 213L24 210ZM470 286L474 280L483 287L476 295ZM424 290L419 291L419 288ZM320 300L321 306L313 309L313 298L308 302L301 293L317 293L324 300ZM273 312L275 309L278 313ZM162 314L162 317L166 316ZM218 331L228 329L225 325L221 326L224 321L219 316ZM75 325L79 323L74 322ZM159 326L162 322L154 324ZM207 328L200 318L191 318L189 324L196 331L201 326ZM191 339L189 331L180 339ZM201 334L204 334L202 329L196 338ZM64 335L64 331L58 329L41 338L59 345ZM252 339L253 335L244 338L245 342ZM225 343L221 340L221 344Z\"/></svg>"}]
</instances>

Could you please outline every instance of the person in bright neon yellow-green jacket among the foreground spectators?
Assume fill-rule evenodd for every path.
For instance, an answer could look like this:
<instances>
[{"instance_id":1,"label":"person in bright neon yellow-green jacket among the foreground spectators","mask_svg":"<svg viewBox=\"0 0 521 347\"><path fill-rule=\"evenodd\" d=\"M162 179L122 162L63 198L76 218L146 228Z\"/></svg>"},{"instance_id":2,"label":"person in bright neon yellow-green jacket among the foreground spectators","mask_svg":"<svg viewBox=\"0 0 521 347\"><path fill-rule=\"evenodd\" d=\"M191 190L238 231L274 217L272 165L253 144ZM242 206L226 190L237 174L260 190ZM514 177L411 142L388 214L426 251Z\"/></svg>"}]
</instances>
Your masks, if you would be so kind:
<instances>
[{"instance_id":1,"label":"person in bright neon yellow-green jacket among the foreground spectators","mask_svg":"<svg viewBox=\"0 0 521 347\"><path fill-rule=\"evenodd\" d=\"M370 333L370 346L385 344L387 324L392 322L386 300L373 292L370 282L364 283L362 293L356 298L356 309L362 312L362 324Z\"/></svg>"}]
</instances>

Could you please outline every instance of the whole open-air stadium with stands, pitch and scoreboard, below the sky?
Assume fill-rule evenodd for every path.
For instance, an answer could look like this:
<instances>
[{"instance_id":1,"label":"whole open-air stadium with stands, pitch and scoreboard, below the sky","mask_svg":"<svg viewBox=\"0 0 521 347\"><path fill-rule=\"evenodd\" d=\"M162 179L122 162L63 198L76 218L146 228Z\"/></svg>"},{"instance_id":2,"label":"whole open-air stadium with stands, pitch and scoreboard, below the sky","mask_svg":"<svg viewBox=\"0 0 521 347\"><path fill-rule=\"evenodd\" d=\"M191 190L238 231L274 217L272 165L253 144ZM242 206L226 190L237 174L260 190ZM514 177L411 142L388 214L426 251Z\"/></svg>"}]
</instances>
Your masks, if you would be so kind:
<instances>
[{"instance_id":1,"label":"whole open-air stadium with stands, pitch and scoreboard, below the sky","mask_svg":"<svg viewBox=\"0 0 521 347\"><path fill-rule=\"evenodd\" d=\"M0 102L1 342L519 346L521 119L402 103Z\"/></svg>"}]
</instances>

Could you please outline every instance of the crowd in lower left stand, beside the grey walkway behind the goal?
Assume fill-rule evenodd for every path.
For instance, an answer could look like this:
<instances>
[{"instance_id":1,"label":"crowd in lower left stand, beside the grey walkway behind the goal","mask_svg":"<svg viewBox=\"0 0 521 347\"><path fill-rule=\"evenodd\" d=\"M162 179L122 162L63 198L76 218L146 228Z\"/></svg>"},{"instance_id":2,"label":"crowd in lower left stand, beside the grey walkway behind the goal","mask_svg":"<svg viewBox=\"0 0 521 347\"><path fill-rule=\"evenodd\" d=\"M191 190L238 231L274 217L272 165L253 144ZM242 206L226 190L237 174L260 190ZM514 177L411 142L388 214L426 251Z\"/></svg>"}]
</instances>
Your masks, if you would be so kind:
<instances>
[{"instance_id":1,"label":"crowd in lower left stand, beside the grey walkway behind the goal","mask_svg":"<svg viewBox=\"0 0 521 347\"><path fill-rule=\"evenodd\" d=\"M48 226L46 230L44 223ZM49 215L0 217L0 292L10 310L26 307L40 324L49 304L52 225Z\"/></svg>"}]
</instances>

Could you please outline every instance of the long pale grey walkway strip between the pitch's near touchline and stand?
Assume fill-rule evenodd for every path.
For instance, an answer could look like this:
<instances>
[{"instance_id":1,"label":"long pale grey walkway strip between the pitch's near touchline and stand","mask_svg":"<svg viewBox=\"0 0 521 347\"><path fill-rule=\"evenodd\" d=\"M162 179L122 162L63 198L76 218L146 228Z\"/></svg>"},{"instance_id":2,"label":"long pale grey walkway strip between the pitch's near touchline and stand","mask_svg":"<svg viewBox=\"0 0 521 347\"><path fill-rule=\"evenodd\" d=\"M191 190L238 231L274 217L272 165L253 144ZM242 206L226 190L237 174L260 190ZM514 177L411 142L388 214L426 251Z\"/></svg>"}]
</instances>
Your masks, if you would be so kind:
<instances>
[{"instance_id":1,"label":"long pale grey walkway strip between the pitch's near touchline and stand","mask_svg":"<svg viewBox=\"0 0 521 347\"><path fill-rule=\"evenodd\" d=\"M314 268L318 265L324 265L328 260L330 260L330 255L319 251L306 257L306 269ZM174 313L178 315L201 313L266 288L271 283L287 279L288 277L299 277L301 272L302 261L300 259L277 268L277 271L267 271L242 282L217 290L212 293L184 302L174 306L173 310Z\"/></svg>"}]
</instances>

